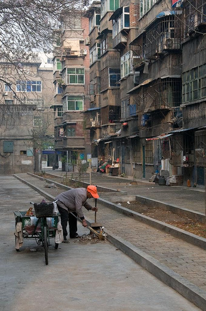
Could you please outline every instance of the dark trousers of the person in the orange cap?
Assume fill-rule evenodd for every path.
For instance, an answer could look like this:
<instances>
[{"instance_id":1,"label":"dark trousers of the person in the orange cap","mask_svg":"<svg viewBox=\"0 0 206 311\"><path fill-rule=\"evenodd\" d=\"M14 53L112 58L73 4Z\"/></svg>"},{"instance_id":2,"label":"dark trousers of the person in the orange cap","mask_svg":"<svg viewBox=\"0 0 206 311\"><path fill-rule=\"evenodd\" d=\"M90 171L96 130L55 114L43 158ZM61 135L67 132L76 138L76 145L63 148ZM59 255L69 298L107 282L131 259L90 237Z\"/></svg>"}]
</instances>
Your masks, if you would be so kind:
<instances>
[{"instance_id":1,"label":"dark trousers of the person in the orange cap","mask_svg":"<svg viewBox=\"0 0 206 311\"><path fill-rule=\"evenodd\" d=\"M62 223L62 229L63 229L63 239L66 240L67 236L67 222L69 223L69 236L74 237L77 234L77 218L75 218L71 213L68 213L68 211L60 206L58 206L59 212L61 214L61 223ZM72 212L74 215L77 216L76 212Z\"/></svg>"}]
</instances>

